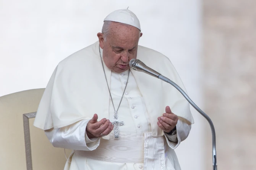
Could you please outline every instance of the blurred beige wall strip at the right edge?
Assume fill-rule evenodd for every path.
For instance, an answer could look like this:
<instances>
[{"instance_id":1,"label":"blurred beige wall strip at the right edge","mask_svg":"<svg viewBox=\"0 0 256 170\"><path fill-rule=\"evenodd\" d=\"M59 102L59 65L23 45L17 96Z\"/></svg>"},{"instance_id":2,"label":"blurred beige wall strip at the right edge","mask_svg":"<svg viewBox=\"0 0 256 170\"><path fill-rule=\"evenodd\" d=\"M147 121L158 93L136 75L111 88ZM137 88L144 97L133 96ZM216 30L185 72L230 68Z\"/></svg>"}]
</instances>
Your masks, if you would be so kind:
<instances>
[{"instance_id":1,"label":"blurred beige wall strip at the right edge","mask_svg":"<svg viewBox=\"0 0 256 170\"><path fill-rule=\"evenodd\" d=\"M256 1L203 1L204 101L217 133L218 167L256 169ZM205 125L206 169L211 133Z\"/></svg>"}]
</instances>

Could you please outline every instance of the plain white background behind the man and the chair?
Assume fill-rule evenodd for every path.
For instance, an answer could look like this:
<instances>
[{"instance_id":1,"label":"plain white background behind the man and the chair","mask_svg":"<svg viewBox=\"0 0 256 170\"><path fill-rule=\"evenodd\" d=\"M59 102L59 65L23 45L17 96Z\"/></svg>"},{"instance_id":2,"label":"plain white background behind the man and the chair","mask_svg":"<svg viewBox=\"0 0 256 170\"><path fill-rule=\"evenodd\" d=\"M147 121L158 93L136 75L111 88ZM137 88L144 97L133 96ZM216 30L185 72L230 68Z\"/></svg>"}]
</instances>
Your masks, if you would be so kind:
<instances>
[{"instance_id":1,"label":"plain white background behind the man and the chair","mask_svg":"<svg viewBox=\"0 0 256 170\"><path fill-rule=\"evenodd\" d=\"M139 44L169 57L191 99L203 106L199 83L200 0L0 0L0 3L0 96L45 88L58 62L96 42L104 18L129 6L141 23L143 36ZM203 170L204 119L193 108L191 111L195 124L188 139L175 151L183 170Z\"/></svg>"}]
</instances>

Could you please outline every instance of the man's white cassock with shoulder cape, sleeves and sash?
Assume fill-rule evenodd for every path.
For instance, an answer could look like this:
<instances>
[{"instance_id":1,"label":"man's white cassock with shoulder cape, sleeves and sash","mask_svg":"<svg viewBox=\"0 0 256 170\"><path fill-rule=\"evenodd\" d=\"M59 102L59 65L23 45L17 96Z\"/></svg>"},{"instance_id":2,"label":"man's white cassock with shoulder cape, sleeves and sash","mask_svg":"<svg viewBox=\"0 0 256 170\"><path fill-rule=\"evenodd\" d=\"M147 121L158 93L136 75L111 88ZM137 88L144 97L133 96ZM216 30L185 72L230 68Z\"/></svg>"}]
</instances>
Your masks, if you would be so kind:
<instances>
[{"instance_id":1,"label":"man's white cassock with shoulder cape, sleeves and sash","mask_svg":"<svg viewBox=\"0 0 256 170\"><path fill-rule=\"evenodd\" d=\"M102 52L102 50L101 50ZM167 57L138 47L137 59L184 86ZM161 67L158 67L158 65ZM115 108L122 97L128 70L115 73L104 64ZM157 117L169 105L179 116L177 134L168 135L157 126ZM131 70L118 110L119 138L113 131L103 138L86 135L87 122L113 120L114 110L99 57L99 42L64 59L55 69L40 102L34 126L45 130L53 146L73 149L65 170L180 170L175 149L188 137L193 124L189 104L171 85Z\"/></svg>"}]
</instances>

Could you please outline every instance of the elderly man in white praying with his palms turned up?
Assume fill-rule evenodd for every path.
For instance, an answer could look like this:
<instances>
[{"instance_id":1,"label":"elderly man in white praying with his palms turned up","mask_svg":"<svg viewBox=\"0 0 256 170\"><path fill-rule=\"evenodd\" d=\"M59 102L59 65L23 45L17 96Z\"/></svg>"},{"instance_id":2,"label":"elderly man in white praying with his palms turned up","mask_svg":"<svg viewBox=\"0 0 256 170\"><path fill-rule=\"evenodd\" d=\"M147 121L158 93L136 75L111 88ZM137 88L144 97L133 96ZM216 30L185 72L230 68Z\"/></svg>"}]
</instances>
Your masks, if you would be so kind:
<instances>
[{"instance_id":1,"label":"elderly man in white praying with his palms turned up","mask_svg":"<svg viewBox=\"0 0 256 170\"><path fill-rule=\"evenodd\" d=\"M180 170L173 149L193 124L189 104L169 84L131 70L129 61L154 65L185 89L175 68L138 45L141 28L130 10L110 13L97 36L55 68L34 126L53 146L73 149L65 170Z\"/></svg>"}]
</instances>

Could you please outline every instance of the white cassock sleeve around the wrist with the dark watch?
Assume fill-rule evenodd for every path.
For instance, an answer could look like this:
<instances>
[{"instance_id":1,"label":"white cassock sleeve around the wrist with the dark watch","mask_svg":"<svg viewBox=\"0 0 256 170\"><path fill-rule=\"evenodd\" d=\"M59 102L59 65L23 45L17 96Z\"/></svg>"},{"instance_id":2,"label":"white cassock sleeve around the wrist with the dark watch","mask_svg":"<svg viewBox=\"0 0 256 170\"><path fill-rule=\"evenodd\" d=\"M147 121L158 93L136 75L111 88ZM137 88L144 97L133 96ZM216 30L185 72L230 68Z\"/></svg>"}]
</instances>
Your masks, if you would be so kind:
<instances>
[{"instance_id":1,"label":"white cassock sleeve around the wrist with the dark watch","mask_svg":"<svg viewBox=\"0 0 256 170\"><path fill-rule=\"evenodd\" d=\"M188 137L188 134L191 130L191 124L188 124L188 122L180 118L178 119L177 125L177 134L176 135L168 135L164 132L165 139L170 146L170 148L175 149L180 145L181 141L185 140Z\"/></svg>"}]
</instances>

